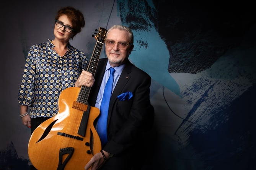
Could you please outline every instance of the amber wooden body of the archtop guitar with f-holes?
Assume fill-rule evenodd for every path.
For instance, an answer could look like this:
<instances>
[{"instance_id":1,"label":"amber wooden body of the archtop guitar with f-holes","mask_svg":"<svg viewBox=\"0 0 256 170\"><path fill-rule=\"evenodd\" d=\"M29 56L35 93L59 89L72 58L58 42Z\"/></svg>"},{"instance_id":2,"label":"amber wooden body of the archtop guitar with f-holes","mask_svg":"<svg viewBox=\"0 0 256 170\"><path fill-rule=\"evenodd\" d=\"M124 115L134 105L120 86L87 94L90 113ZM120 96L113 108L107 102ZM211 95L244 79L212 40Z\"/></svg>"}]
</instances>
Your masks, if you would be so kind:
<instances>
[{"instance_id":1,"label":"amber wooden body of the archtop guitar with f-holes","mask_svg":"<svg viewBox=\"0 0 256 170\"><path fill-rule=\"evenodd\" d=\"M93 125L99 109L90 106L74 108L79 91L79 87L62 91L59 113L41 123L31 135L28 155L38 170L84 170L91 157L100 152L101 142ZM86 113L88 109L90 113ZM80 135L78 129L86 114L85 135Z\"/></svg>"}]
</instances>

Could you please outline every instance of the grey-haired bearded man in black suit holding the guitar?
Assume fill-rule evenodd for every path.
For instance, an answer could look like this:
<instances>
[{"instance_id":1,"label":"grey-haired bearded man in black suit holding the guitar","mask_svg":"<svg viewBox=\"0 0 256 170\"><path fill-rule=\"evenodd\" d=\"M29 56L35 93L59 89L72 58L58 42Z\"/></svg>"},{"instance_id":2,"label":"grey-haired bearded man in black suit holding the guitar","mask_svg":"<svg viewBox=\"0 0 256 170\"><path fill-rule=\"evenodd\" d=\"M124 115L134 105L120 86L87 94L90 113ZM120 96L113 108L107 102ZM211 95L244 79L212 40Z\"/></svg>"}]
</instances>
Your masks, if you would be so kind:
<instances>
[{"instance_id":1,"label":"grey-haired bearded man in black suit holding the guitar","mask_svg":"<svg viewBox=\"0 0 256 170\"><path fill-rule=\"evenodd\" d=\"M106 34L105 47L108 58L99 60L88 103L100 108L110 76L109 68L114 68L105 128L107 139L105 142L101 139L102 151L91 158L85 170L90 167L91 170L139 169L145 157L142 139L152 128L154 119L154 109L149 99L151 78L128 60L134 47L133 33L129 28L121 25L111 27ZM100 112L99 119L103 116L103 110L100 109ZM99 133L99 120L95 127Z\"/></svg>"}]
</instances>

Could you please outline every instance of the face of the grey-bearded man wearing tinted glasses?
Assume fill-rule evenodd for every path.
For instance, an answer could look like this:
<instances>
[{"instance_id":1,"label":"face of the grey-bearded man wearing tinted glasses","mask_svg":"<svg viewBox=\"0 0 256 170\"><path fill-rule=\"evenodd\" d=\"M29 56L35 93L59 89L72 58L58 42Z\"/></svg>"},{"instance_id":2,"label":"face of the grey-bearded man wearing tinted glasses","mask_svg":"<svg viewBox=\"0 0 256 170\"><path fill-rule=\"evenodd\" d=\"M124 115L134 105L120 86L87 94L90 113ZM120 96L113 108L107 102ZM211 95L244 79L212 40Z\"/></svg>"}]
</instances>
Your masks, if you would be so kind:
<instances>
[{"instance_id":1,"label":"face of the grey-bearded man wearing tinted glasses","mask_svg":"<svg viewBox=\"0 0 256 170\"><path fill-rule=\"evenodd\" d=\"M108 32L106 40L106 55L110 65L116 67L126 62L134 47L133 45L127 45L127 43L130 43L128 32L112 29Z\"/></svg>"}]
</instances>

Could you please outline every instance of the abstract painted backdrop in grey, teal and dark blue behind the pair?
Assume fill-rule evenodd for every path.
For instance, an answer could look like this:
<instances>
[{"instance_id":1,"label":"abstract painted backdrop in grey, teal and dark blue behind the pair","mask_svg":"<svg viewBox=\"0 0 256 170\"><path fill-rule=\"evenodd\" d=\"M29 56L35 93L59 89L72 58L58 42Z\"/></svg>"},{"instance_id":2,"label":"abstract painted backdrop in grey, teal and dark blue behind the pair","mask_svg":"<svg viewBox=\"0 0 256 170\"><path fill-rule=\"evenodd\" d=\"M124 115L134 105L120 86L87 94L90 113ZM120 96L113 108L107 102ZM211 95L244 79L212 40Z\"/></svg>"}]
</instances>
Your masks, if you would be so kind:
<instances>
[{"instance_id":1,"label":"abstract painted backdrop in grey, teal and dark blue behind the pair","mask_svg":"<svg viewBox=\"0 0 256 170\"><path fill-rule=\"evenodd\" d=\"M129 59L152 77L155 122L147 170L255 170L256 15L227 1L56 0L1 2L0 170L28 170L30 129L21 123L18 88L33 44L53 39L63 6L85 15L70 42L88 57L91 37L113 24L134 31ZM101 57L105 57L104 52Z\"/></svg>"}]
</instances>

